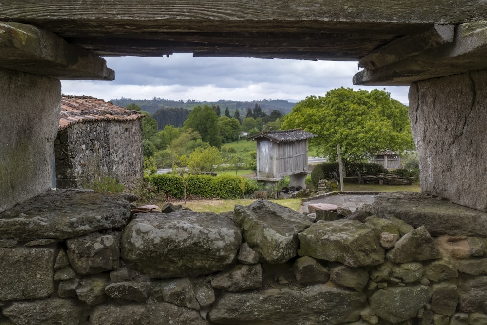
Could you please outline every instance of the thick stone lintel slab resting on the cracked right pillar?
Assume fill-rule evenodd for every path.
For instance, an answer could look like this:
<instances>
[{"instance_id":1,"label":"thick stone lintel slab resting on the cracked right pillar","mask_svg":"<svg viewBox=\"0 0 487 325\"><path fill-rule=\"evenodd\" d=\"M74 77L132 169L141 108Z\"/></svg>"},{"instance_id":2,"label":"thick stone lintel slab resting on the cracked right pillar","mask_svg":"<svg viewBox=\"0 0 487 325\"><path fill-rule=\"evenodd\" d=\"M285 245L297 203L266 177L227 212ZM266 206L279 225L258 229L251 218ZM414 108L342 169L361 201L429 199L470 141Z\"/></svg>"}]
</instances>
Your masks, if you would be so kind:
<instances>
[{"instance_id":1,"label":"thick stone lintel slab resting on the cracked right pillar","mask_svg":"<svg viewBox=\"0 0 487 325\"><path fill-rule=\"evenodd\" d=\"M458 25L454 40L419 55L357 73L355 85L407 86L413 82L487 68L487 21Z\"/></svg>"}]
</instances>

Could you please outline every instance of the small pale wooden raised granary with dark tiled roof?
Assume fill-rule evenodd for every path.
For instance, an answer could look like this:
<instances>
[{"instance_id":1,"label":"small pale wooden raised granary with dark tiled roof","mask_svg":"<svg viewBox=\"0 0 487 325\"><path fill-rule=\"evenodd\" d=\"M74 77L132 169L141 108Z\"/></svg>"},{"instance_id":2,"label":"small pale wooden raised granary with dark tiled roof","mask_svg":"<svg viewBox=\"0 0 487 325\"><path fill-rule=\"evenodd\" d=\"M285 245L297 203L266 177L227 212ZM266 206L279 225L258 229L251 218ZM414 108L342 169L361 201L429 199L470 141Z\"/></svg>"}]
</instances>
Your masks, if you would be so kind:
<instances>
[{"instance_id":1,"label":"small pale wooden raised granary with dark tiled roof","mask_svg":"<svg viewBox=\"0 0 487 325\"><path fill-rule=\"evenodd\" d=\"M308 139L315 136L303 129L292 129L262 131L247 138L257 141L255 179L272 184L289 176L291 186L306 188Z\"/></svg>"}]
</instances>

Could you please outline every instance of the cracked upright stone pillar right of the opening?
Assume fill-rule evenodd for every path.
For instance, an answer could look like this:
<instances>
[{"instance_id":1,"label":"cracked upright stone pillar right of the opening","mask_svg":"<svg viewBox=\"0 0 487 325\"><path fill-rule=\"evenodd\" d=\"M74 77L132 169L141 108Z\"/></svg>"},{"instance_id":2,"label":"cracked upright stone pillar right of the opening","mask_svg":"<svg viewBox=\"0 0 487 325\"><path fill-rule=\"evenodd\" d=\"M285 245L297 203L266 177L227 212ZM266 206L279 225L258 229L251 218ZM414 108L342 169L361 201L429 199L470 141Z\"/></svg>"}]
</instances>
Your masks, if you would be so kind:
<instances>
[{"instance_id":1,"label":"cracked upright stone pillar right of the opening","mask_svg":"<svg viewBox=\"0 0 487 325\"><path fill-rule=\"evenodd\" d=\"M421 191L487 211L487 70L413 83L409 116Z\"/></svg>"}]
</instances>

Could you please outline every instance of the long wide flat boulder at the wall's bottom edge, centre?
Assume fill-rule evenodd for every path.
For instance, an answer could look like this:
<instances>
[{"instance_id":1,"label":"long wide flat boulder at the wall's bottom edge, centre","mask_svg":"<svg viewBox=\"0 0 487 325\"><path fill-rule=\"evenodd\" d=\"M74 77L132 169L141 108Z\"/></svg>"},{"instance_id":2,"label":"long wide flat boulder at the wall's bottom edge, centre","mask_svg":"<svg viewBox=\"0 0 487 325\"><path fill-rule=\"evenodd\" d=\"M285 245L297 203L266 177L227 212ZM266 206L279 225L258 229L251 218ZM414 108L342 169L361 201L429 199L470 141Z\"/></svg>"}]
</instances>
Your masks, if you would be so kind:
<instances>
[{"instance_id":1,"label":"long wide flat boulder at the wall's bottom edge, centre","mask_svg":"<svg viewBox=\"0 0 487 325\"><path fill-rule=\"evenodd\" d=\"M209 312L211 322L233 325L341 324L358 321L364 294L327 284L304 288L225 292Z\"/></svg>"}]
</instances>

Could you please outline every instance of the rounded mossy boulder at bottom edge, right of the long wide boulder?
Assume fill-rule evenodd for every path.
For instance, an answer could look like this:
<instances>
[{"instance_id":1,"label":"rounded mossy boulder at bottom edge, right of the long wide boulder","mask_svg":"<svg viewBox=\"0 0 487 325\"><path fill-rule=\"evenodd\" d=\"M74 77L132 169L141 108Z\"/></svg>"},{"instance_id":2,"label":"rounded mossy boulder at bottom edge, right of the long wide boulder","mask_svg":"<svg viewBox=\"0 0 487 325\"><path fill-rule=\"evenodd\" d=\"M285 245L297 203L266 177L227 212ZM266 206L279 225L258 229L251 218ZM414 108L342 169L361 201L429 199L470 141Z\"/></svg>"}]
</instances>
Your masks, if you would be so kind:
<instances>
[{"instance_id":1,"label":"rounded mossy boulder at bottom edge, right of the long wide boulder","mask_svg":"<svg viewBox=\"0 0 487 325\"><path fill-rule=\"evenodd\" d=\"M389 287L375 291L370 306L377 316L395 324L415 317L430 298L428 286Z\"/></svg>"}]
</instances>

